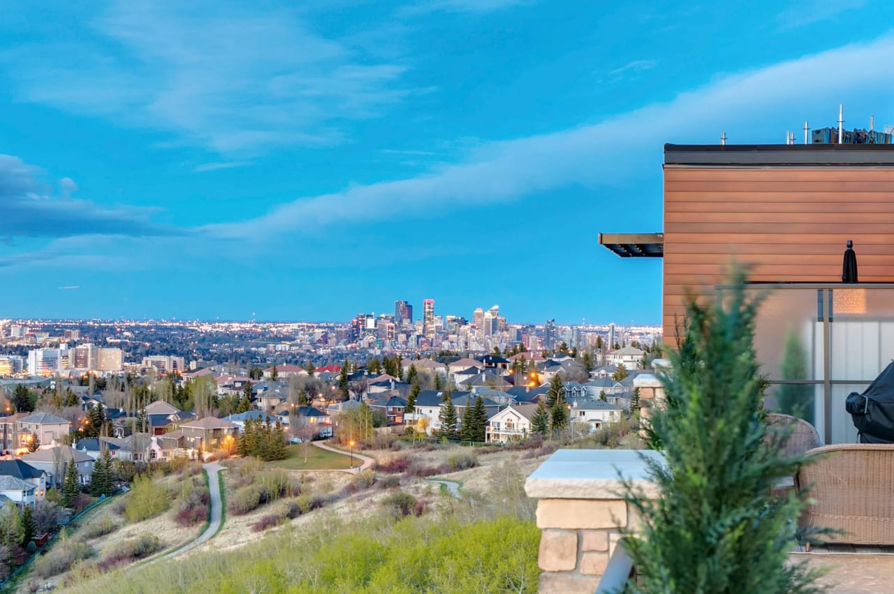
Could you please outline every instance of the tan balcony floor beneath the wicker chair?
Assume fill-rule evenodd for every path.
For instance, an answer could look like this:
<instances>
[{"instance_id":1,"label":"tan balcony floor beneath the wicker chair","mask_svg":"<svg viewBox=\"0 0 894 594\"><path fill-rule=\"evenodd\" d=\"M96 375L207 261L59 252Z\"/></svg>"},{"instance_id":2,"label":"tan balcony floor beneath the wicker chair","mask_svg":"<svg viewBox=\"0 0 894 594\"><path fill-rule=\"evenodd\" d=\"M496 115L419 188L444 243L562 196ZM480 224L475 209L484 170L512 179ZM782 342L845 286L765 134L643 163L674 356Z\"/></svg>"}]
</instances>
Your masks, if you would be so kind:
<instances>
[{"instance_id":1,"label":"tan balcony floor beneath the wicker chair","mask_svg":"<svg viewBox=\"0 0 894 594\"><path fill-rule=\"evenodd\" d=\"M828 573L819 583L835 594L878 594L894 583L894 547L826 545L791 554L795 563L806 563Z\"/></svg>"}]
</instances>

